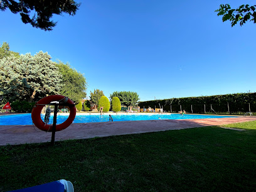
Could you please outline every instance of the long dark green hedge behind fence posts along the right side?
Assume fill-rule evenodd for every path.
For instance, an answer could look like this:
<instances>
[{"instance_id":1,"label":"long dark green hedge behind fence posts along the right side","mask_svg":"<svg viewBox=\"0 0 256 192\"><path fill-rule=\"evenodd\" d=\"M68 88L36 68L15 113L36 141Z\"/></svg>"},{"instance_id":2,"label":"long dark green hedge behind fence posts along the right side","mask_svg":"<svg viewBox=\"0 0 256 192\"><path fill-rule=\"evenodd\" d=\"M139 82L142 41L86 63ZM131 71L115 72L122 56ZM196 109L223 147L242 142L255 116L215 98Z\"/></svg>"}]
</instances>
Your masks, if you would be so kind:
<instances>
[{"instance_id":1,"label":"long dark green hedge behind fence posts along the right side","mask_svg":"<svg viewBox=\"0 0 256 192\"><path fill-rule=\"evenodd\" d=\"M227 95L213 95L205 97L184 97L184 98L173 98L173 99L163 99L163 100L149 100L145 102L140 102L139 107L148 108L159 108L159 104L163 105L164 110L167 112L178 112L180 110L180 105L182 110L191 113L191 105L193 113L203 114L211 111L211 106L215 112L229 112L230 114L237 114L237 112L248 112L249 104L250 111L256 112L256 93L235 93Z\"/></svg>"}]
</instances>

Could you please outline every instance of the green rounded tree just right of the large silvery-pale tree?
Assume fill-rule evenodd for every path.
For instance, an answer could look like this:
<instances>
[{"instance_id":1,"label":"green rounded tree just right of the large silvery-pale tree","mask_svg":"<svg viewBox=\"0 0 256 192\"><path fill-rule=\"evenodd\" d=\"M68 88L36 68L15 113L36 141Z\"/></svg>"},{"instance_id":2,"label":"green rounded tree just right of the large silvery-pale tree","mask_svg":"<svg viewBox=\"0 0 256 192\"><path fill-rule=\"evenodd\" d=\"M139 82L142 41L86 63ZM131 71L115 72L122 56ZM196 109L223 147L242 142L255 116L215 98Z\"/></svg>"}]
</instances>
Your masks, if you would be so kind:
<instances>
[{"instance_id":1,"label":"green rounded tree just right of the large silvery-pale tree","mask_svg":"<svg viewBox=\"0 0 256 192\"><path fill-rule=\"evenodd\" d=\"M83 74L59 61L56 64L62 77L63 87L60 90L61 95L69 97L75 104L78 104L86 97L87 82Z\"/></svg>"}]
</instances>

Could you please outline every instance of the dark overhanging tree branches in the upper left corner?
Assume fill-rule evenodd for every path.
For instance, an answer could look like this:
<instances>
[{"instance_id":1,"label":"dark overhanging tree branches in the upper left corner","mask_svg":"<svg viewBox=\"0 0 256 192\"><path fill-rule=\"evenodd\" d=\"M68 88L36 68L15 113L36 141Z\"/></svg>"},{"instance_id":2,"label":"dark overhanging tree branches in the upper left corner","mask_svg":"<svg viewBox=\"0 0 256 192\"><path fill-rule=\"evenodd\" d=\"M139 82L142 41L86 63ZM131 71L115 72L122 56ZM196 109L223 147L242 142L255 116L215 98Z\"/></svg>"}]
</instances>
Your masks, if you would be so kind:
<instances>
[{"instance_id":1,"label":"dark overhanging tree branches in the upper left corner","mask_svg":"<svg viewBox=\"0 0 256 192\"><path fill-rule=\"evenodd\" d=\"M10 9L12 13L19 13L21 21L30 23L35 28L50 31L56 26L56 22L50 19L53 14L63 13L75 15L80 3L73 0L1 0L0 10Z\"/></svg>"}]
</instances>

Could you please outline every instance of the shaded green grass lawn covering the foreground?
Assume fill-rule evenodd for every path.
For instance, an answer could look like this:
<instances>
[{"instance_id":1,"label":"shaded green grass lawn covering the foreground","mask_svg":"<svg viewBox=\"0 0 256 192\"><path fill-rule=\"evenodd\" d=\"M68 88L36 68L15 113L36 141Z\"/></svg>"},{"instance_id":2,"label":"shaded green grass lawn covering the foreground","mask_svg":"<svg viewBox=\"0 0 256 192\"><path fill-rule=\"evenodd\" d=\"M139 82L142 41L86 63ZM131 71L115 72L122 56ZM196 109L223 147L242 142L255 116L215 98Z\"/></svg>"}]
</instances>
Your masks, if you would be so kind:
<instances>
[{"instance_id":1,"label":"shaded green grass lawn covering the foreground","mask_svg":"<svg viewBox=\"0 0 256 192\"><path fill-rule=\"evenodd\" d=\"M0 170L0 191L57 179L75 191L254 191L256 131L201 127L1 146Z\"/></svg>"}]
</instances>

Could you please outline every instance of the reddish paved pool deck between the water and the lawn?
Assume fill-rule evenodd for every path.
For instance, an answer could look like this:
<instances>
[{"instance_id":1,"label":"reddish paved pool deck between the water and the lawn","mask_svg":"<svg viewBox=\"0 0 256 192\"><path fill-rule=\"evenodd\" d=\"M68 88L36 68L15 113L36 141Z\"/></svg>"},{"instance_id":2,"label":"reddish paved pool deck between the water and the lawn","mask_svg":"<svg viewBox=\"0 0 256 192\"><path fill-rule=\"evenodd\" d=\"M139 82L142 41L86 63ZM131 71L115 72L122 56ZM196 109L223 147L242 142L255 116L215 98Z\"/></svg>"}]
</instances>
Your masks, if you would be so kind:
<instances>
[{"instance_id":1,"label":"reddish paved pool deck between the water and the lawn","mask_svg":"<svg viewBox=\"0 0 256 192\"><path fill-rule=\"evenodd\" d=\"M56 132L55 141L179 130L251 120L256 120L256 117L80 123ZM0 125L0 146L50 141L51 132L41 131L34 125Z\"/></svg>"}]
</instances>

